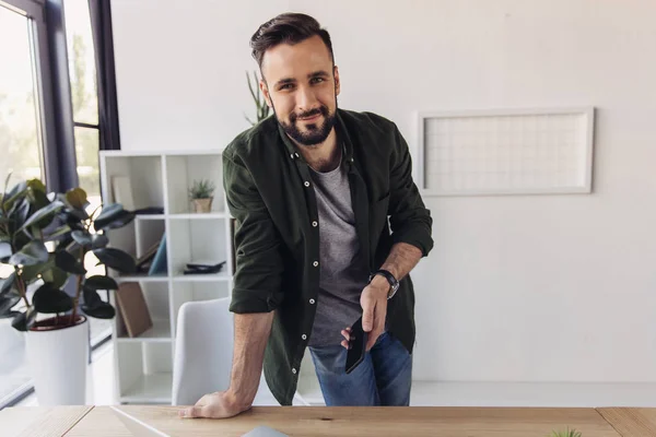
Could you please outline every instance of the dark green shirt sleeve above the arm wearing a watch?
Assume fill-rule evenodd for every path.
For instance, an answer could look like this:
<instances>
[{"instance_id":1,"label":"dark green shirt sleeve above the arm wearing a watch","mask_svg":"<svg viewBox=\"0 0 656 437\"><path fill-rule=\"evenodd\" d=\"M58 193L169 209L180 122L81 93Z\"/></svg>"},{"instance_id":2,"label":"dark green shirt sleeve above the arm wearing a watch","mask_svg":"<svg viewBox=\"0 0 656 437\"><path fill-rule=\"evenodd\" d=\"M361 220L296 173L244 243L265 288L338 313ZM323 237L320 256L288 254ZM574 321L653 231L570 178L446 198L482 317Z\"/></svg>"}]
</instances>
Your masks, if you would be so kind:
<instances>
[{"instance_id":1,"label":"dark green shirt sleeve above the arm wearing a watch","mask_svg":"<svg viewBox=\"0 0 656 437\"><path fill-rule=\"evenodd\" d=\"M395 126L395 151L390 169L389 224L393 243L407 243L427 256L433 248L433 218L412 180L412 158L406 140Z\"/></svg>"}]
</instances>

